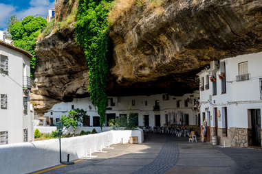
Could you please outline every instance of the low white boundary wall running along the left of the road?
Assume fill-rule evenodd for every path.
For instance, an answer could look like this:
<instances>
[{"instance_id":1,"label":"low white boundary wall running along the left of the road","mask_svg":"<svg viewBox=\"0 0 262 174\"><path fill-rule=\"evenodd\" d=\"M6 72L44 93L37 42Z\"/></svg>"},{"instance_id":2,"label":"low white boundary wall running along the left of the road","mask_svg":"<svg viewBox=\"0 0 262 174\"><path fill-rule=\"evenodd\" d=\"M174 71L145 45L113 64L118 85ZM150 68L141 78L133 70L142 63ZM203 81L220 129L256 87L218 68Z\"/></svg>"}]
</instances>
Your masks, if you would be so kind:
<instances>
[{"instance_id":1,"label":"low white boundary wall running along the left of the road","mask_svg":"<svg viewBox=\"0 0 262 174\"><path fill-rule=\"evenodd\" d=\"M129 142L131 136L138 136L138 142L144 141L142 129L133 131L109 131L87 136L62 138L62 160L76 160L87 156L89 149L99 150L108 145ZM1 173L30 173L59 164L58 139L23 142L0 146Z\"/></svg>"}]
</instances>

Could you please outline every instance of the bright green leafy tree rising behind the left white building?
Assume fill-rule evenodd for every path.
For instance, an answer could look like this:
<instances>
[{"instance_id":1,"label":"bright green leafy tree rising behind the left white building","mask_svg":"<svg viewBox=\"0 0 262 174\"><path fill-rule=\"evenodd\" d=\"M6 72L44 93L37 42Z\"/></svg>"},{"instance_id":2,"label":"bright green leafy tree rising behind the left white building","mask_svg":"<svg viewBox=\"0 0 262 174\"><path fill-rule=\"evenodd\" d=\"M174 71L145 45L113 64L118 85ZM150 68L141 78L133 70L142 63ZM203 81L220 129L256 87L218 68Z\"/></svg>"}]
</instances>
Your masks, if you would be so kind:
<instances>
[{"instance_id":1,"label":"bright green leafy tree rising behind the left white building","mask_svg":"<svg viewBox=\"0 0 262 174\"><path fill-rule=\"evenodd\" d=\"M14 40L14 45L29 51L34 57L31 58L31 76L34 75L34 69L36 67L36 53L34 49L36 47L36 38L41 33L47 25L47 21L42 17L27 16L23 18L23 21L16 21L13 17L10 20L10 34L12 35L12 40Z\"/></svg>"}]
</instances>

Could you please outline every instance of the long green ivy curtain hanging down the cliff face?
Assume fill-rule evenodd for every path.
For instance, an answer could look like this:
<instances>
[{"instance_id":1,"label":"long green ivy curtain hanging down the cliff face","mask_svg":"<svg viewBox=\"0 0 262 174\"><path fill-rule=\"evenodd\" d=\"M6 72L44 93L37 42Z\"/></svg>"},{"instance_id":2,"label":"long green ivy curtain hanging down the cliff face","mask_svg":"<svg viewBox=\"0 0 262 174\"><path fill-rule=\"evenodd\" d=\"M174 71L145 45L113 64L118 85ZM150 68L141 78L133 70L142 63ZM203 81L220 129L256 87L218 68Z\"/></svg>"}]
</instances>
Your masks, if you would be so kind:
<instances>
[{"instance_id":1,"label":"long green ivy curtain hanging down the cliff face","mask_svg":"<svg viewBox=\"0 0 262 174\"><path fill-rule=\"evenodd\" d=\"M107 16L112 0L79 0L76 41L83 47L89 68L89 93L91 102L98 109L100 127L105 125L107 107L107 73L109 66L109 23Z\"/></svg>"}]
</instances>

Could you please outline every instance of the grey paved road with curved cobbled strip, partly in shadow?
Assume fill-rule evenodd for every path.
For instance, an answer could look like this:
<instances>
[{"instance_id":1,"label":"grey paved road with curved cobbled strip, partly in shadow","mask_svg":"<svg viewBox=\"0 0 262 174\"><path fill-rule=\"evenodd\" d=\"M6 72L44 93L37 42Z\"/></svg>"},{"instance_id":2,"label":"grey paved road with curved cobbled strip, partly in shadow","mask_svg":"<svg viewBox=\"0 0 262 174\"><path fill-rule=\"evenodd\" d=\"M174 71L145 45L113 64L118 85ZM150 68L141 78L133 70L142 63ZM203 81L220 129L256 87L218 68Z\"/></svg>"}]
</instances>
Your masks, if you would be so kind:
<instances>
[{"instance_id":1,"label":"grey paved road with curved cobbled strip, partly in shadow","mask_svg":"<svg viewBox=\"0 0 262 174\"><path fill-rule=\"evenodd\" d=\"M262 173L261 149L217 148L187 138L149 134L142 145L114 145L98 158L48 173Z\"/></svg>"}]
</instances>

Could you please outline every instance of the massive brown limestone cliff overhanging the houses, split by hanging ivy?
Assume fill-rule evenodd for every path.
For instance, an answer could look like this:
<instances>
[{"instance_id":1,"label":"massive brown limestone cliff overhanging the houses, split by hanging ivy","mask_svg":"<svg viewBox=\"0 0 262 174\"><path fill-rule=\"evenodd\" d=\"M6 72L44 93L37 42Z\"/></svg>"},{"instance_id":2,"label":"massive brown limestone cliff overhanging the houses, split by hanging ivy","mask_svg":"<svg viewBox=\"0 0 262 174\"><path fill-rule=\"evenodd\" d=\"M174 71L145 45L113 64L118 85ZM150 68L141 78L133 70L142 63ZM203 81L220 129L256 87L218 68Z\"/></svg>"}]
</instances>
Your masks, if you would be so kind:
<instances>
[{"instance_id":1,"label":"massive brown limestone cliff overhanging the houses, split by hanging ivy","mask_svg":"<svg viewBox=\"0 0 262 174\"><path fill-rule=\"evenodd\" d=\"M198 88L195 75L211 60L262 51L261 0L166 0L160 9L133 5L111 26L109 95L182 95ZM88 95L85 56L70 28L37 46L36 112Z\"/></svg>"}]
</instances>

